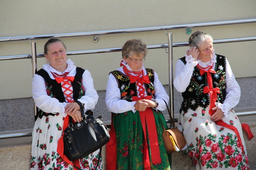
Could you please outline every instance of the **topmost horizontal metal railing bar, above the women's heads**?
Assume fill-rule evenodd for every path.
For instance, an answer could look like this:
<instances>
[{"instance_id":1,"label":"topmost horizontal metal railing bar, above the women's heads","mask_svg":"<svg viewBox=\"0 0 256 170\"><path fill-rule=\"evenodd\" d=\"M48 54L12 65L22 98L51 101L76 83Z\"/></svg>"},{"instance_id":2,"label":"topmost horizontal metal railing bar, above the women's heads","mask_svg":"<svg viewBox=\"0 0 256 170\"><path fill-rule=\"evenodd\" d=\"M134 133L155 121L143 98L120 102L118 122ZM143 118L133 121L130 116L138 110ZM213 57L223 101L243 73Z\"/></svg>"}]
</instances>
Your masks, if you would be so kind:
<instances>
[{"instance_id":1,"label":"topmost horizontal metal railing bar, above the women's heads","mask_svg":"<svg viewBox=\"0 0 256 170\"><path fill-rule=\"evenodd\" d=\"M134 28L134 29L121 29L121 30L108 30L108 31L91 31L91 32L79 32L79 33L63 33L63 34L46 34L46 35L30 35L30 36L16 36L16 37L1 37L0 42L4 41L19 41L19 40L32 40L43 38L63 38L63 37L79 37L79 36L91 36L91 35L107 35L107 34L121 34L121 33L135 33L146 31L162 31L172 29L185 29L185 28L197 28L197 27L211 27L211 26L225 26L231 24L245 24L254 23L254 19L240 19L231 21L217 21L217 22L203 22L192 24L179 24L172 26L160 26L160 27L146 27L146 28Z\"/></svg>"}]
</instances>

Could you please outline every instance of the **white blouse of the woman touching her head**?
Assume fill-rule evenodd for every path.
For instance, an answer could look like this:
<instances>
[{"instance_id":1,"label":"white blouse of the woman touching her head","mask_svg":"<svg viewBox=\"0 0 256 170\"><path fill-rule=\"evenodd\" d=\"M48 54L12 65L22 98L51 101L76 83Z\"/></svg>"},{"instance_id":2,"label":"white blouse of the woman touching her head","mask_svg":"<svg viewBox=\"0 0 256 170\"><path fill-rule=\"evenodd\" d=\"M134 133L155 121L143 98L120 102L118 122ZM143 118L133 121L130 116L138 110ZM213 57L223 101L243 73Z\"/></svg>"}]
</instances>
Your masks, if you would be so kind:
<instances>
[{"instance_id":1,"label":"white blouse of the woman touching her head","mask_svg":"<svg viewBox=\"0 0 256 170\"><path fill-rule=\"evenodd\" d=\"M199 64L201 67L207 67L208 65L213 65L213 69L215 68L216 64L216 54L213 53L212 60L209 62L201 62L200 60L194 61L191 55L187 56L186 58L186 65L181 61L178 60L176 63L175 68L175 79L173 81L173 85L179 92L184 92L187 86L190 83L190 78L193 74L194 67ZM224 112L225 117L228 117L228 111L235 107L239 100L240 100L240 87L234 77L234 74L231 70L231 67L228 63L226 58L226 99L223 103L215 103L216 106L222 109Z\"/></svg>"}]
</instances>

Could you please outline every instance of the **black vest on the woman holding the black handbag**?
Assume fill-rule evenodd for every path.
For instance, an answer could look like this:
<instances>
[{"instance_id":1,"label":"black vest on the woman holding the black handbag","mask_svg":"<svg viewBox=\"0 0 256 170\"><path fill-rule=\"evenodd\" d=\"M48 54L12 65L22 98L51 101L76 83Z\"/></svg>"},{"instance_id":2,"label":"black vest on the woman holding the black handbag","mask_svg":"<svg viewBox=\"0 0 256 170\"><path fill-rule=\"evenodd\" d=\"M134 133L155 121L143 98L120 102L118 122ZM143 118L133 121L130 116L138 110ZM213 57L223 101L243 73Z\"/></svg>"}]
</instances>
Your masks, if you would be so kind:
<instances>
[{"instance_id":1,"label":"black vest on the woman holding the black handbag","mask_svg":"<svg viewBox=\"0 0 256 170\"><path fill-rule=\"evenodd\" d=\"M75 78L74 78L74 81L71 82L72 87L73 87L73 99L74 100L80 99L82 96L85 95L84 86L82 83L84 71L85 71L84 69L82 69L80 67L76 67ZM59 102L61 102L61 103L66 102L65 96L61 89L61 83L57 83L55 79L51 79L49 74L44 69L40 69L39 71L37 71L36 74L40 75L44 79L45 86L46 86L46 92L47 92L48 96L58 99ZM58 114L59 113L57 113L56 115L58 115ZM38 117L41 119L43 116L47 117L49 115L54 116L55 114L45 113L38 108L37 115L35 116L35 120Z\"/></svg>"}]
</instances>

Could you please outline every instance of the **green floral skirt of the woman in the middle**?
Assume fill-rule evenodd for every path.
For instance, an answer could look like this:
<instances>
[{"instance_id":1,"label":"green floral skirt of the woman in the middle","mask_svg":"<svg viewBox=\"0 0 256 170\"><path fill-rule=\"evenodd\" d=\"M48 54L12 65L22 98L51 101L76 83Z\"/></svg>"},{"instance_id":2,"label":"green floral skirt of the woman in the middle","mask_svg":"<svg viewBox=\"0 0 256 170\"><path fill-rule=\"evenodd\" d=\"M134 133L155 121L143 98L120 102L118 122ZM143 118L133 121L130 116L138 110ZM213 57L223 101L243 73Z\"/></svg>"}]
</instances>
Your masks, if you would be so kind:
<instances>
[{"instance_id":1,"label":"green floral skirt of the woman in the middle","mask_svg":"<svg viewBox=\"0 0 256 170\"><path fill-rule=\"evenodd\" d=\"M154 113L156 122L156 131L158 137L158 145L160 149L161 164L153 164L151 159L150 146L148 147L148 154L150 159L151 169L168 169L171 168L171 154L166 153L165 145L162 139L162 120L165 128L167 124L165 117L159 113ZM113 114L113 123L116 131L116 149L117 149L117 169L144 169L143 165L143 143L144 134L140 120L140 114L137 111L131 111L123 114ZM150 124L147 124L149 126ZM147 143L149 143L148 133L146 132Z\"/></svg>"}]
</instances>

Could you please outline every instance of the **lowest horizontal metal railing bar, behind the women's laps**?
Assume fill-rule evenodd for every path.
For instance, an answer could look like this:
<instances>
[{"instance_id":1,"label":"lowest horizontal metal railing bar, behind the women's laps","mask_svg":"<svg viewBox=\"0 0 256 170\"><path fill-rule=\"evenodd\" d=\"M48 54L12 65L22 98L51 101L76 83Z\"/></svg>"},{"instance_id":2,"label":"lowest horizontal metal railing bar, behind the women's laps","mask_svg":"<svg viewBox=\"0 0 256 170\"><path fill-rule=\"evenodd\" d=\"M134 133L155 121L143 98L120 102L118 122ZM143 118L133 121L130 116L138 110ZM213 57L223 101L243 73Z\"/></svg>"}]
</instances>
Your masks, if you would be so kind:
<instances>
[{"instance_id":1,"label":"lowest horizontal metal railing bar, behind the women's laps","mask_svg":"<svg viewBox=\"0 0 256 170\"><path fill-rule=\"evenodd\" d=\"M236 113L237 116L251 116L251 115L256 115L256 111L251 111L251 112L241 112L241 113ZM165 115L165 117L169 117L169 115ZM175 122L177 122L177 119L174 119ZM167 123L170 123L169 119L166 119ZM110 123L111 121L103 121L103 123L110 128ZM32 129L28 129L28 132L23 132L23 133L12 133L12 134L4 134L0 135L0 140L1 139L9 139L9 138L18 138L18 137L28 137L32 136Z\"/></svg>"}]
</instances>

